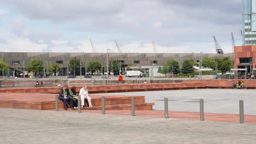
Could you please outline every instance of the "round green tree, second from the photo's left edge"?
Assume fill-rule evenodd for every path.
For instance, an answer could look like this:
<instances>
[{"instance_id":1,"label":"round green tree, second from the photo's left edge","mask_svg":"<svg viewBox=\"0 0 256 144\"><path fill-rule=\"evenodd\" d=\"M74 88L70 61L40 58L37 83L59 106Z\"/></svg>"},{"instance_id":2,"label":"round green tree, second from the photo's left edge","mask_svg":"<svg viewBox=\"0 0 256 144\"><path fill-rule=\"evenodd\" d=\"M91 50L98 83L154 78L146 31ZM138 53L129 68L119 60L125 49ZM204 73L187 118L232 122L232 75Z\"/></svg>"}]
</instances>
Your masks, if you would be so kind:
<instances>
[{"instance_id":1,"label":"round green tree, second from the photo's left edge","mask_svg":"<svg viewBox=\"0 0 256 144\"><path fill-rule=\"evenodd\" d=\"M27 69L29 71L33 71L36 76L44 70L44 63L40 59L32 59L30 62L28 62Z\"/></svg>"}]
</instances>

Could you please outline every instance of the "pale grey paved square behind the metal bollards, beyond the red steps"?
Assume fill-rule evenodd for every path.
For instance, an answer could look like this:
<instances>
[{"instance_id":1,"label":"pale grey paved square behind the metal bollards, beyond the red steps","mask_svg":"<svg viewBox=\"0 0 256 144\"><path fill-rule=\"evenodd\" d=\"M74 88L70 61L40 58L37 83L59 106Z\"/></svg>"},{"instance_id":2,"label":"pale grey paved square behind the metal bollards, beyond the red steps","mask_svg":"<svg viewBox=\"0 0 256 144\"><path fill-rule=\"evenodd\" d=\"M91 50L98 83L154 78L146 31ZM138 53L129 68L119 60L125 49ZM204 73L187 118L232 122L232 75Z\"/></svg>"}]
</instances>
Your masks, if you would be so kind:
<instances>
[{"instance_id":1,"label":"pale grey paved square behind the metal bollards, beyond the red steps","mask_svg":"<svg viewBox=\"0 0 256 144\"><path fill-rule=\"evenodd\" d=\"M199 112L199 99L203 99L205 112L232 114L239 113L239 100L243 100L245 115L256 115L255 92L255 89L183 89L104 95L143 95L147 103L155 103L154 110L164 110L164 98L168 98L168 110L190 112Z\"/></svg>"}]
</instances>

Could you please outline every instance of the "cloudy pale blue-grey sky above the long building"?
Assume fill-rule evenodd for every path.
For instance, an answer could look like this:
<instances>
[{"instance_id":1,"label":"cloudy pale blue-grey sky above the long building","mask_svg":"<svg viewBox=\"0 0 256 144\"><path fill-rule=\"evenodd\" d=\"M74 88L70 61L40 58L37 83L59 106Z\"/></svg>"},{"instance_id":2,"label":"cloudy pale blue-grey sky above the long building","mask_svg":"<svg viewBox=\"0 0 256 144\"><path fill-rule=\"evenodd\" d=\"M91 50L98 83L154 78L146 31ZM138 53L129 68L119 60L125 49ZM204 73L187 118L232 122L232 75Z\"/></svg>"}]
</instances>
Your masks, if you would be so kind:
<instances>
[{"instance_id":1,"label":"cloudy pale blue-grey sky above the long building","mask_svg":"<svg viewBox=\"0 0 256 144\"><path fill-rule=\"evenodd\" d=\"M241 0L0 0L1 52L232 53Z\"/></svg>"}]
</instances>

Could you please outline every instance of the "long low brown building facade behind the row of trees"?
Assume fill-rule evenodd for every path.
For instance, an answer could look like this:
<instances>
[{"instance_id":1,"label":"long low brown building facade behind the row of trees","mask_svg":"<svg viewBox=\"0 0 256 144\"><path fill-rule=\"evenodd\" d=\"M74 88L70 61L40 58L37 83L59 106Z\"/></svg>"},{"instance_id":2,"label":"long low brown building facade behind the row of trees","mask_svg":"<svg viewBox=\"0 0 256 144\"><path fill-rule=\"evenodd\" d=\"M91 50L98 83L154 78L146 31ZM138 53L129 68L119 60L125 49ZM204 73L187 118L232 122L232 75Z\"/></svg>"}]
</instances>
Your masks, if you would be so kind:
<instances>
[{"instance_id":1,"label":"long low brown building facade behind the row of trees","mask_svg":"<svg viewBox=\"0 0 256 144\"><path fill-rule=\"evenodd\" d=\"M67 75L69 60L72 57L77 57L81 60L82 75L86 73L86 67L90 61L101 62L102 67L107 67L108 61L119 61L120 70L123 72L127 65L137 66L152 66L155 67L164 65L166 61L174 59L182 65L183 61L188 58L198 61L203 57L229 57L233 59L232 53L217 54L217 53L61 53L61 52L0 52L0 58L9 65L9 68L15 69L15 75L20 73L22 69L28 65L32 59L41 59L44 62L45 71L52 63L58 63L61 67L60 75ZM80 75L80 71L76 71ZM17 74L16 74L17 73ZM8 72L8 75L10 72Z\"/></svg>"}]
</instances>

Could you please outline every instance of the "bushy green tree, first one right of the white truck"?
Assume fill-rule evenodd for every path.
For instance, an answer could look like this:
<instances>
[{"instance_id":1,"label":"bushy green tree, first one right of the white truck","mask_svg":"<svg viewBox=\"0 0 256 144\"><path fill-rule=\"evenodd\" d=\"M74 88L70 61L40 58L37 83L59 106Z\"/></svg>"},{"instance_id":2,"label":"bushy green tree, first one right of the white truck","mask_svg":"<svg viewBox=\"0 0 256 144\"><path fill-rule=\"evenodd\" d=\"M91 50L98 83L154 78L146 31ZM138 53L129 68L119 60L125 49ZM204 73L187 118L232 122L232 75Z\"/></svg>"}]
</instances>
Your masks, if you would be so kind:
<instances>
[{"instance_id":1,"label":"bushy green tree, first one right of the white truck","mask_svg":"<svg viewBox=\"0 0 256 144\"><path fill-rule=\"evenodd\" d=\"M162 74L173 73L178 74L181 72L179 68L179 63L174 60L169 60L165 63L164 67L162 68Z\"/></svg>"}]
</instances>

